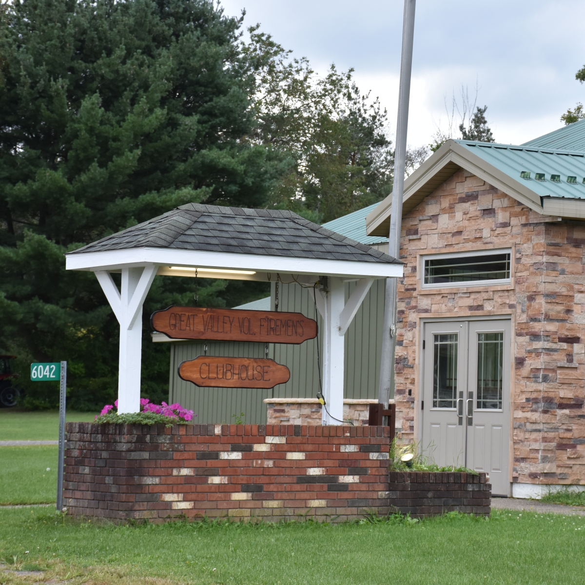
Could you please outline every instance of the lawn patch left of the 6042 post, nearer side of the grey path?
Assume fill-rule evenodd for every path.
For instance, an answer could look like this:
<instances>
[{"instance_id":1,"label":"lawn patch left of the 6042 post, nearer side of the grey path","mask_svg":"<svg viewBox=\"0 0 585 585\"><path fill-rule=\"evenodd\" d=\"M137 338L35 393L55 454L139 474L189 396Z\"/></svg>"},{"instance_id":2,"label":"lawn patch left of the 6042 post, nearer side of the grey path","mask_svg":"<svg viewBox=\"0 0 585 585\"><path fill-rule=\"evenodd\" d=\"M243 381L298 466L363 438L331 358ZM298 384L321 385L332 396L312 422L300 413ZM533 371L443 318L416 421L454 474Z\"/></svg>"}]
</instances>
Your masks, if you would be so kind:
<instances>
[{"instance_id":1,"label":"lawn patch left of the 6042 post, nearer side of the grey path","mask_svg":"<svg viewBox=\"0 0 585 585\"><path fill-rule=\"evenodd\" d=\"M0 505L56 501L58 450L52 445L0 447Z\"/></svg>"}]
</instances>

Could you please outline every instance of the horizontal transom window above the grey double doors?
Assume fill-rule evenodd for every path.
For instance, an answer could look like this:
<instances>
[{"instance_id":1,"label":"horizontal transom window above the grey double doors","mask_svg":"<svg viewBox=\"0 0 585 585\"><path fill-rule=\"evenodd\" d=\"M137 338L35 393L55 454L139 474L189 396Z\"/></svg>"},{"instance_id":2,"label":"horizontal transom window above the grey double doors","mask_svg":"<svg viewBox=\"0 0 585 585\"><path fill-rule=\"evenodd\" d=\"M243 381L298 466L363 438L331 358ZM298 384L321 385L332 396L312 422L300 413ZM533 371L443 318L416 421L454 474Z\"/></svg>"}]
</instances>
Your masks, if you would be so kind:
<instances>
[{"instance_id":1,"label":"horizontal transom window above the grey double doors","mask_svg":"<svg viewBox=\"0 0 585 585\"><path fill-rule=\"evenodd\" d=\"M510 278L510 252L425 260L425 284L463 283Z\"/></svg>"}]
</instances>

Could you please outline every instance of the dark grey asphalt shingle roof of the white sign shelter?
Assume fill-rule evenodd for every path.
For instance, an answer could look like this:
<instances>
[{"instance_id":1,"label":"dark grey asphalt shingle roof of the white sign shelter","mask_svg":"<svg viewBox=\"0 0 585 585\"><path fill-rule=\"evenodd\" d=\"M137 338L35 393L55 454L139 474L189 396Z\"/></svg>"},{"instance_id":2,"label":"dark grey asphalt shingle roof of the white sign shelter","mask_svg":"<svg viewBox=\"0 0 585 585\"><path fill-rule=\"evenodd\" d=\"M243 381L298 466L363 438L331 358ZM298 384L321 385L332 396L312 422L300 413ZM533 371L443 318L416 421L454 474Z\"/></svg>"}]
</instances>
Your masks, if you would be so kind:
<instances>
[{"instance_id":1,"label":"dark grey asphalt shingle roof of the white sign shelter","mask_svg":"<svg viewBox=\"0 0 585 585\"><path fill-rule=\"evenodd\" d=\"M291 211L190 203L71 254L142 247L401 264Z\"/></svg>"}]
</instances>

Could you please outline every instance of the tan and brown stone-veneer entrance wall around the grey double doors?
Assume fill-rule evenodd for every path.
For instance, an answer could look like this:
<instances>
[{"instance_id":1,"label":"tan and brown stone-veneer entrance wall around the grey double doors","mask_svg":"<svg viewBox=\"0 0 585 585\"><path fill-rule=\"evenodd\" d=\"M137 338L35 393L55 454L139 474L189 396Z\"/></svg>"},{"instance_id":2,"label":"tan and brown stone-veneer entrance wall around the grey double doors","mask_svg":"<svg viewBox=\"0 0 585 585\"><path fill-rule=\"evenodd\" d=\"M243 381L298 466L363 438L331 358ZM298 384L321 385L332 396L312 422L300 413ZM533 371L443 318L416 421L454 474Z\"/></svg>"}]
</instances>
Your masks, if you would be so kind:
<instances>
[{"instance_id":1,"label":"tan and brown stone-veneer entrance wall around the grey double doors","mask_svg":"<svg viewBox=\"0 0 585 585\"><path fill-rule=\"evenodd\" d=\"M512 481L585 483L585 226L531 211L464 170L402 221L399 438L415 436L423 317L512 315ZM419 254L512 248L512 284L421 290ZM414 388L412 397L407 388Z\"/></svg>"}]
</instances>

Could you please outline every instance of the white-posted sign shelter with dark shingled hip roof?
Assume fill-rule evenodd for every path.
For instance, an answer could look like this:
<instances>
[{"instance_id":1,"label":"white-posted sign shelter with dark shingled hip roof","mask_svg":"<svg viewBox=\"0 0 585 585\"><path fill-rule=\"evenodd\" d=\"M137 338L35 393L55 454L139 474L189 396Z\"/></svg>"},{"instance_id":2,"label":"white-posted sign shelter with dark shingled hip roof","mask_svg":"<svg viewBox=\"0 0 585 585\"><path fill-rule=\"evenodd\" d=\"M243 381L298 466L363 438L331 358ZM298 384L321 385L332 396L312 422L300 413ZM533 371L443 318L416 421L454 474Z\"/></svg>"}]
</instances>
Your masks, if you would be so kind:
<instances>
[{"instance_id":1,"label":"white-posted sign shelter with dark shingled hip roof","mask_svg":"<svg viewBox=\"0 0 585 585\"><path fill-rule=\"evenodd\" d=\"M343 419L343 336L371 284L402 263L290 211L182 205L67 254L95 273L120 324L119 412L140 409L142 305L157 274L297 281L315 287L323 318L323 424ZM121 290L111 273L122 274ZM324 278L326 277L326 278ZM347 281L357 281L345 302ZM161 307L163 308L163 307Z\"/></svg>"}]
</instances>

